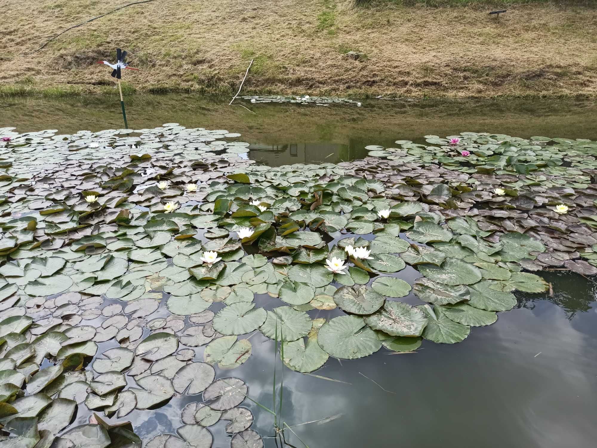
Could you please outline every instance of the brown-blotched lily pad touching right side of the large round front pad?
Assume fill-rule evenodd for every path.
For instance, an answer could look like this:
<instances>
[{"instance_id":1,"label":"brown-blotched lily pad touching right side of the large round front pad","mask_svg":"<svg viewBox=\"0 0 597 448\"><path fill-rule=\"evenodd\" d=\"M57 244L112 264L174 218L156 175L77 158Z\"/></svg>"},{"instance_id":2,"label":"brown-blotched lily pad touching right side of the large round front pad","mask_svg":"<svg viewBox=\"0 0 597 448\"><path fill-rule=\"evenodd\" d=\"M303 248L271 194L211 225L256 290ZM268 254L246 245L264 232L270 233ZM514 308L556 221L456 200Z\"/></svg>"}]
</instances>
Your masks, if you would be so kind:
<instances>
[{"instance_id":1,"label":"brown-blotched lily pad touching right side of the large round front pad","mask_svg":"<svg viewBox=\"0 0 597 448\"><path fill-rule=\"evenodd\" d=\"M386 301L380 310L365 316L364 320L374 330L390 336L420 336L427 325L427 319L420 310L395 301Z\"/></svg>"}]
</instances>

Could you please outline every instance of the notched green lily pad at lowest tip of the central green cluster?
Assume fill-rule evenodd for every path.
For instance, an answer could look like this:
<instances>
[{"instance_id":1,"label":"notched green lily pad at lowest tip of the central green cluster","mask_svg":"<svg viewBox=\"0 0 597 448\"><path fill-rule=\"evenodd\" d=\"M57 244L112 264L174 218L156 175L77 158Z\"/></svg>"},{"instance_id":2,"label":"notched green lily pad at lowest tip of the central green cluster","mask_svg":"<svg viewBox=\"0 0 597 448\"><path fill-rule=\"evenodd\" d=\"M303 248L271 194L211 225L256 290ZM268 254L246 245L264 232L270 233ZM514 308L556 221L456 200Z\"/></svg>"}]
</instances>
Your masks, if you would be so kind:
<instances>
[{"instance_id":1,"label":"notched green lily pad at lowest tip of the central green cluster","mask_svg":"<svg viewBox=\"0 0 597 448\"><path fill-rule=\"evenodd\" d=\"M319 367L327 362L329 355L319 347L317 342L319 329L324 323L325 319L313 320L312 329L307 335L306 340L298 338L296 341L284 342L284 358L282 362L284 362L285 366L296 372L309 373L319 369ZM282 350L280 350L280 357L282 357ZM230 432L227 429L226 431Z\"/></svg>"}]
</instances>

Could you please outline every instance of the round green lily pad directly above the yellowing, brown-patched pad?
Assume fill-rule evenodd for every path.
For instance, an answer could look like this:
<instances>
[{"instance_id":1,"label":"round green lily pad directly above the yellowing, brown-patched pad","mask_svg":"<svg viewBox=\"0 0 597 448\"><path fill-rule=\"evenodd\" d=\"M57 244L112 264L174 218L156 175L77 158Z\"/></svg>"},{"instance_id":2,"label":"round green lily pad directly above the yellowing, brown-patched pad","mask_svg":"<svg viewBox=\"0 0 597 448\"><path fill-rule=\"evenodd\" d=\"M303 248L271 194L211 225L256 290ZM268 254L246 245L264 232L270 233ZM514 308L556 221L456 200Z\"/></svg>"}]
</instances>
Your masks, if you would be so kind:
<instances>
[{"instance_id":1,"label":"round green lily pad directly above the yellowing, brown-patched pad","mask_svg":"<svg viewBox=\"0 0 597 448\"><path fill-rule=\"evenodd\" d=\"M266 320L263 308L254 303L237 302L222 308L213 319L214 329L223 335L242 335L256 330Z\"/></svg>"}]
</instances>

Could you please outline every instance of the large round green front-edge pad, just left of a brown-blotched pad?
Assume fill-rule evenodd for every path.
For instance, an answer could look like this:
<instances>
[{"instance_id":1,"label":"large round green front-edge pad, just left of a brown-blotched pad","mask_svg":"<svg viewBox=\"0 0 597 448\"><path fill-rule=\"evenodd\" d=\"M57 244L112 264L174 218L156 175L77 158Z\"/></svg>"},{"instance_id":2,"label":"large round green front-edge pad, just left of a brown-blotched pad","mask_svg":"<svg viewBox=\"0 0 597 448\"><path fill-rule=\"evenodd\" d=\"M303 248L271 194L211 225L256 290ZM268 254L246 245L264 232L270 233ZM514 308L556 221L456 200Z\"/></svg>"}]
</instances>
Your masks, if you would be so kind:
<instances>
[{"instance_id":1,"label":"large round green front-edge pad, just left of a brown-blotched pad","mask_svg":"<svg viewBox=\"0 0 597 448\"><path fill-rule=\"evenodd\" d=\"M338 316L324 323L317 337L319 346L340 359L356 359L381 348L376 333L358 316Z\"/></svg>"}]
</instances>

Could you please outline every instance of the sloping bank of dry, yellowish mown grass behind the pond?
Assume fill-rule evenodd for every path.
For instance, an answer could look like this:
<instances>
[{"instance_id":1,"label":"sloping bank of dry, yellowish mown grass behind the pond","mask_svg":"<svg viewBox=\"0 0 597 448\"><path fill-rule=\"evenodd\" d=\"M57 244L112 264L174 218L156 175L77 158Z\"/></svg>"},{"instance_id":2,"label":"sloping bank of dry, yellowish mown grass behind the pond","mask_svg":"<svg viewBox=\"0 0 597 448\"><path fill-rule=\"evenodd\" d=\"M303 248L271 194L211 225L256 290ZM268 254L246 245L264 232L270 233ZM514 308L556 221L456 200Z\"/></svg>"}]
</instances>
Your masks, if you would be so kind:
<instances>
[{"instance_id":1,"label":"sloping bank of dry, yellowish mown grass behind the pond","mask_svg":"<svg viewBox=\"0 0 597 448\"><path fill-rule=\"evenodd\" d=\"M7 0L0 95L117 94L114 49L141 72L125 94L594 97L597 11L464 0ZM430 7L433 6L433 7ZM435 8L435 6L439 6ZM487 13L508 9L496 17ZM347 57L358 51L358 60Z\"/></svg>"}]
</instances>

